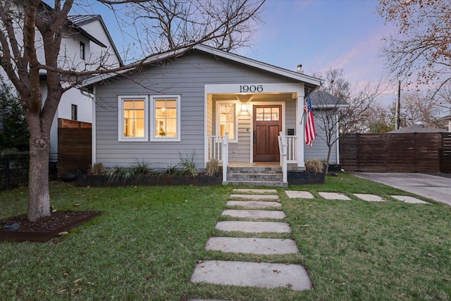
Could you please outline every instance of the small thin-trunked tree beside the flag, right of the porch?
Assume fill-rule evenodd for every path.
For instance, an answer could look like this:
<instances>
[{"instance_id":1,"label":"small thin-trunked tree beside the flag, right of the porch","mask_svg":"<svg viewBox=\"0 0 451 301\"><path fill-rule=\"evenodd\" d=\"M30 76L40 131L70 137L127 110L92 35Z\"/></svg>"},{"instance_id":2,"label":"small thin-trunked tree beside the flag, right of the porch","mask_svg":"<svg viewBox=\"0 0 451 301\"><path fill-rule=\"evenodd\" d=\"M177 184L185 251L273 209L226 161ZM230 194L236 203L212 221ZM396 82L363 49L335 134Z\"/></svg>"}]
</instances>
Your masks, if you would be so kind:
<instances>
[{"instance_id":1,"label":"small thin-trunked tree beside the flag, right of the porch","mask_svg":"<svg viewBox=\"0 0 451 301\"><path fill-rule=\"evenodd\" d=\"M343 133L361 132L366 127L366 111L382 93L381 83L364 87L351 85L342 69L330 69L324 75L316 73L314 76L324 80L317 92L316 104L321 112L315 114L315 120L319 121L315 125L325 134L320 137L328 147L325 168L328 173L333 145Z\"/></svg>"}]
</instances>

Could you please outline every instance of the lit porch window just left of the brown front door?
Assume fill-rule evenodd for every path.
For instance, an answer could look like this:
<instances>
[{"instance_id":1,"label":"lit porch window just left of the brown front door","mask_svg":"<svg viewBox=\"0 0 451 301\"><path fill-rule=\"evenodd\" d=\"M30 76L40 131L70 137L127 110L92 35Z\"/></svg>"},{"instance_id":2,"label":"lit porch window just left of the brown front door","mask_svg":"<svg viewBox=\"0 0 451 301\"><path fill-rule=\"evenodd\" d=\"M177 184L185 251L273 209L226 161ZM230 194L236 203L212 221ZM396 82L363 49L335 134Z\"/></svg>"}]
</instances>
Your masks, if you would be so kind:
<instances>
[{"instance_id":1,"label":"lit porch window just left of the brown front door","mask_svg":"<svg viewBox=\"0 0 451 301\"><path fill-rule=\"evenodd\" d=\"M216 102L216 135L228 133L230 142L237 142L236 107L235 102Z\"/></svg>"}]
</instances>

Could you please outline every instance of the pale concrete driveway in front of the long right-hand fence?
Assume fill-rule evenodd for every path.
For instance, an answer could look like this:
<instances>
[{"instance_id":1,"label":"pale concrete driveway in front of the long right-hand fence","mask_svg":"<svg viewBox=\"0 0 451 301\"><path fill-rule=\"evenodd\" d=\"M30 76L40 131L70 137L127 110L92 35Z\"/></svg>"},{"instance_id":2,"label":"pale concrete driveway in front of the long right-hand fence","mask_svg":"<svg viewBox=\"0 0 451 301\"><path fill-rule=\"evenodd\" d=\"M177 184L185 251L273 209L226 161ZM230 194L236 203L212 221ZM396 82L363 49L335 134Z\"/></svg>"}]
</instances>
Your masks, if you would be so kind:
<instances>
[{"instance_id":1,"label":"pale concrete driveway in front of the long right-hand fence","mask_svg":"<svg viewBox=\"0 0 451 301\"><path fill-rule=\"evenodd\" d=\"M424 173L352 173L359 178L428 197L451 206L451 178Z\"/></svg>"}]
</instances>

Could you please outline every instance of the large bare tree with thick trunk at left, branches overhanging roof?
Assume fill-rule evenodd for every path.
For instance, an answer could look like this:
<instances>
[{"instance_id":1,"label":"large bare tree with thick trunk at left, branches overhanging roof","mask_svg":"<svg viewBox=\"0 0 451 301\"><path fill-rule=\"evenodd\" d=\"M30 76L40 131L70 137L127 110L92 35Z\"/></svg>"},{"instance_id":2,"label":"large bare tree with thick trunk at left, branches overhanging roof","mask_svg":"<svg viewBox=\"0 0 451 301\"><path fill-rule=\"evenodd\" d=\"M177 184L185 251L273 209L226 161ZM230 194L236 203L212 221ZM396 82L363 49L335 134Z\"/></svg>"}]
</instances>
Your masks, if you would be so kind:
<instances>
[{"instance_id":1,"label":"large bare tree with thick trunk at left, branches overhanging roof","mask_svg":"<svg viewBox=\"0 0 451 301\"><path fill-rule=\"evenodd\" d=\"M136 6L146 4L151 8L164 7L169 1L98 0L97 3L109 7L125 5L128 6L128 10L138 10ZM176 25L178 28L187 28L188 30L185 31L187 36L175 40L175 35L173 35L173 39L171 39L173 43L145 49L146 55L139 61L114 68L108 66L105 63L106 59L102 58L84 66L75 66L70 63L70 57L64 56L65 51L61 43L63 37L78 30L73 23L68 22L68 14L73 8L85 5L86 3L82 0L55 0L53 6L39 0L4 0L0 2L0 65L18 91L20 104L23 106L27 124L30 127L28 185L30 193L27 212L27 219L30 221L37 221L50 215L48 177L50 130L64 92L79 85L83 79L91 75L119 73L132 68L142 68L159 61L159 55L165 55L170 59L171 56L175 57L181 51L190 50L199 43L224 37L230 40L235 28L245 26L249 20L254 20L253 16L257 16L264 0L180 0L171 3L192 4L189 5L192 8L190 15L180 18L180 23ZM153 4L155 6L152 6ZM213 4L220 5L213 6ZM218 7L218 9L209 11L212 7ZM152 14L152 10L149 13ZM178 18L178 15L175 16L171 9L165 13L164 16L167 20ZM166 25L173 25L173 23L166 22ZM179 32L178 28L175 29L175 32ZM140 38L143 37L142 32L144 30L140 32ZM168 32L173 31L160 33L167 35ZM168 41L170 40L168 39ZM44 59L39 58L38 51L44 52ZM96 66L96 68L89 68L92 66ZM42 72L47 76L45 82L47 97L44 101L42 101L39 78L39 73Z\"/></svg>"}]
</instances>

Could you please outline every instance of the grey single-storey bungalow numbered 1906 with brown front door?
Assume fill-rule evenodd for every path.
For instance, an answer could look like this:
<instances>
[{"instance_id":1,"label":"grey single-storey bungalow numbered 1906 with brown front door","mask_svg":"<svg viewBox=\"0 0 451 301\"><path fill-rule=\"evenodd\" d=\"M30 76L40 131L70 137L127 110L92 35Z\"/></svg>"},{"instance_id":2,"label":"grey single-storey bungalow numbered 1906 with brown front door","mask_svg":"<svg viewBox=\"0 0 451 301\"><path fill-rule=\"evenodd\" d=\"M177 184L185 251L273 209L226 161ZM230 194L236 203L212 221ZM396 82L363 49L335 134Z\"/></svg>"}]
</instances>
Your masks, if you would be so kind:
<instances>
[{"instance_id":1,"label":"grey single-storey bungalow numbered 1906 with brown front door","mask_svg":"<svg viewBox=\"0 0 451 301\"><path fill-rule=\"evenodd\" d=\"M319 85L318 78L204 45L107 80L90 78L93 164L145 160L167 168L192 156L202 169L214 158L228 167L224 183L235 182L230 167L259 166L254 173L282 168L286 185L287 171L304 171L304 149L326 158L320 137L312 148L304 144L305 98ZM316 133L322 135L319 127ZM331 163L338 157L337 148Z\"/></svg>"}]
</instances>

